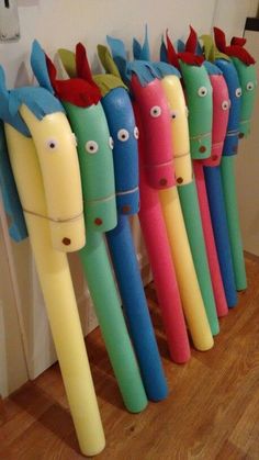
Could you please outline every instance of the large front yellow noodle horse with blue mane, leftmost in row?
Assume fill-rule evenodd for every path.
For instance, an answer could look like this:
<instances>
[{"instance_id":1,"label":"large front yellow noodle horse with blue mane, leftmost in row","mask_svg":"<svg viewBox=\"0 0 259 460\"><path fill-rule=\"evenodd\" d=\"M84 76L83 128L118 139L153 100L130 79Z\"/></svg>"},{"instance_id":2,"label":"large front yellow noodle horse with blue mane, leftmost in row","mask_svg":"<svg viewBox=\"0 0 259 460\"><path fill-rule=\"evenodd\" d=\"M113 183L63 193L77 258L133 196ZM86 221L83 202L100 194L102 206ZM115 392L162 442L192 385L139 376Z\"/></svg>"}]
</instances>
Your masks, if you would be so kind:
<instances>
[{"instance_id":1,"label":"large front yellow noodle horse with blue mane, leftmost in row","mask_svg":"<svg viewBox=\"0 0 259 460\"><path fill-rule=\"evenodd\" d=\"M2 68L0 119L12 167L7 175L21 200L12 211L9 201L11 228L21 226L22 207L80 449L97 455L105 440L65 254L86 240L75 136L56 98L43 88L8 91ZM5 186L4 195L15 193L13 178Z\"/></svg>"}]
</instances>

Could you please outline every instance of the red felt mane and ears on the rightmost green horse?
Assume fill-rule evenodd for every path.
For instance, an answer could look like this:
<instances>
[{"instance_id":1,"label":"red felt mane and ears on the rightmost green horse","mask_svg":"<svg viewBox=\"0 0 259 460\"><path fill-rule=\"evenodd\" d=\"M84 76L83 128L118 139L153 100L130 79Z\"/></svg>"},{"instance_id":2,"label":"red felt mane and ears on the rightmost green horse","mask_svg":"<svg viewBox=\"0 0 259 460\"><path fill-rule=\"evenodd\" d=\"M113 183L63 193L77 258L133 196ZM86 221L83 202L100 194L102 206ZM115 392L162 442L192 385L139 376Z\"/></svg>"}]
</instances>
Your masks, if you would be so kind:
<instances>
[{"instance_id":1,"label":"red felt mane and ears on the rightmost green horse","mask_svg":"<svg viewBox=\"0 0 259 460\"><path fill-rule=\"evenodd\" d=\"M215 43L219 52L225 53L227 56L237 57L240 59L246 66L250 66L256 64L254 57L244 48L246 44L246 38L241 37L233 37L230 41L230 45L226 45L226 35L225 33L218 29L214 27L214 37Z\"/></svg>"}]
</instances>

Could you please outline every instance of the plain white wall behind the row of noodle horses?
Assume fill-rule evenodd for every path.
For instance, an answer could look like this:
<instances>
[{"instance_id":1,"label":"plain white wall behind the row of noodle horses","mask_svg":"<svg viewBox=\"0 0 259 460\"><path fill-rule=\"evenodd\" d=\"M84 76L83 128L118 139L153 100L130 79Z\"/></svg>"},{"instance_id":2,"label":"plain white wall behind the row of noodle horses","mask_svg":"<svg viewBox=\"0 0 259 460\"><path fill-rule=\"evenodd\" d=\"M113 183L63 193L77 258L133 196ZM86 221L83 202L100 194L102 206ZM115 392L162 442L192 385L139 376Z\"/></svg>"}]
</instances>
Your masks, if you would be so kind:
<instances>
[{"instance_id":1,"label":"plain white wall behind the row of noodle horses","mask_svg":"<svg viewBox=\"0 0 259 460\"><path fill-rule=\"evenodd\" d=\"M0 61L7 71L10 87L18 82L23 85L27 81L27 72L31 78L27 63L33 38L37 38L47 53L53 53L58 47L72 48L81 41L87 45L95 69L95 46L98 43L105 43L106 34L121 37L130 48L133 36L143 38L145 23L149 26L153 57L156 58L160 35L167 27L173 40L185 38L190 23L200 34L210 32L215 21L230 35L240 34L246 15L255 13L257 3L257 0L19 0L21 40L14 44L0 44ZM4 220L1 220L1 225L5 228ZM146 256L136 221L133 227L138 256L145 265ZM0 246L5 251L2 239ZM29 243L11 244L9 256L5 251L4 257L9 257L9 263L14 267L18 293L14 299L13 280L8 270L1 271L0 298L3 302L2 308L5 313L9 312L8 321L0 314L0 394L5 395L25 381L27 374L33 378L48 367L55 359L55 352ZM76 255L70 257L70 263L86 330L92 321L87 285ZM9 295L2 296L3 284L4 289L9 289ZM10 316L13 318L12 334ZM10 340L4 339L7 335Z\"/></svg>"}]
</instances>

